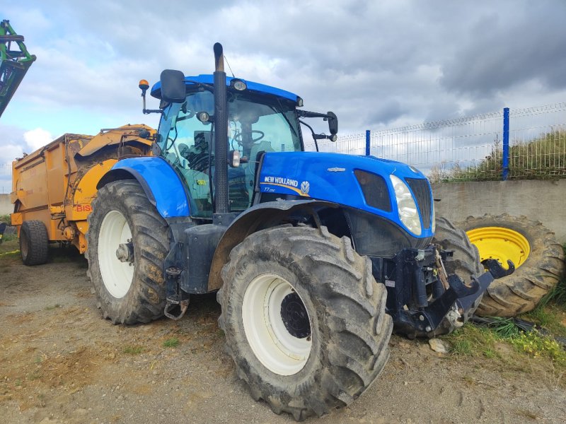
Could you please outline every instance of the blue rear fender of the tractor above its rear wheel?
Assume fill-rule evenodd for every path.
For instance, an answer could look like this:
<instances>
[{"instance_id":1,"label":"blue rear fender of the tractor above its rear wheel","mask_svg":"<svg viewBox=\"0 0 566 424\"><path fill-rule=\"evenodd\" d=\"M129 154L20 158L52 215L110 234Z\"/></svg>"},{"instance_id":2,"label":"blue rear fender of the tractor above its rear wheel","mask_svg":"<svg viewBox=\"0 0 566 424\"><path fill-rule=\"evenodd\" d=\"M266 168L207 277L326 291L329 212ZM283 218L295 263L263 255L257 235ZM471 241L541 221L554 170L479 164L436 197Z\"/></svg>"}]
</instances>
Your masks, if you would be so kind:
<instances>
[{"instance_id":1,"label":"blue rear fender of the tractor above its rear wheel","mask_svg":"<svg viewBox=\"0 0 566 424\"><path fill-rule=\"evenodd\" d=\"M143 178L144 181L140 181L140 184L151 191L157 211L163 218L189 216L189 203L183 183L163 158L122 159L112 167L112 170L120 169L134 170L138 180Z\"/></svg>"}]
</instances>

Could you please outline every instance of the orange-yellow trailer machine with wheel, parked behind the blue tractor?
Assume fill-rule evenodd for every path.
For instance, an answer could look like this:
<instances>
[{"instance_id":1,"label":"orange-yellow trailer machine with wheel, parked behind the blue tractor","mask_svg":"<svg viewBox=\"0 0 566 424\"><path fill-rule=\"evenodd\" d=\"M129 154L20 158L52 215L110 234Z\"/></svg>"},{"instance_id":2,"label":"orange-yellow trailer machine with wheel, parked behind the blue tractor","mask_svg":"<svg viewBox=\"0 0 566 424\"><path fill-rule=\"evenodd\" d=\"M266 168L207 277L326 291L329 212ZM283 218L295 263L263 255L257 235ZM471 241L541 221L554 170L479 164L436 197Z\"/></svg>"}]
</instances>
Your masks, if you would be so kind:
<instances>
[{"instance_id":1,"label":"orange-yellow trailer machine with wheel, parked behind the blue tractor","mask_svg":"<svg viewBox=\"0 0 566 424\"><path fill-rule=\"evenodd\" d=\"M146 125L105 129L96 136L64 134L12 163L12 225L26 265L47 261L50 242L87 249L86 217L96 184L117 160L151 154L155 130Z\"/></svg>"}]
</instances>

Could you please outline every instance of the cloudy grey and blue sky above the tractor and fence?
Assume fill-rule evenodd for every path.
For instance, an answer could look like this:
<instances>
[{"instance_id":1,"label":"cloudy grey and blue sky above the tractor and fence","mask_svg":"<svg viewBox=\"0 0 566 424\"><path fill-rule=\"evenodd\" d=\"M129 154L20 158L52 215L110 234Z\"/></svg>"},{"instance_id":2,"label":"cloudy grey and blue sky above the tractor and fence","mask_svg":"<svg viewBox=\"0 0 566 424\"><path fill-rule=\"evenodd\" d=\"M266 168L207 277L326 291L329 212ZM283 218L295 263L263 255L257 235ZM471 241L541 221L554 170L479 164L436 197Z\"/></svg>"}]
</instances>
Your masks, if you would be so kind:
<instances>
[{"instance_id":1,"label":"cloudy grey and blue sky above the tractor and fence","mask_svg":"<svg viewBox=\"0 0 566 424\"><path fill-rule=\"evenodd\" d=\"M37 56L0 118L0 192L1 164L61 134L156 126L139 79L211 73L217 41L236 76L333 110L340 134L562 102L565 16L564 0L0 0Z\"/></svg>"}]
</instances>

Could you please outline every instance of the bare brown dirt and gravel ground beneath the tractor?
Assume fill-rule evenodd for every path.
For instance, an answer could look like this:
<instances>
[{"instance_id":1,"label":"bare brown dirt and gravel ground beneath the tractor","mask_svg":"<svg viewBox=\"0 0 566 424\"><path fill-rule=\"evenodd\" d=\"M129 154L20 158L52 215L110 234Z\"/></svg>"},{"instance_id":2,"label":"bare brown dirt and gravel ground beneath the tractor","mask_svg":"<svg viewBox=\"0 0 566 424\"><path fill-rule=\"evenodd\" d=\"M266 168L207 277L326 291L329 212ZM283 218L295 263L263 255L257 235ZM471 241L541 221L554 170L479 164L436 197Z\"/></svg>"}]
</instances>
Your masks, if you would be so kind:
<instances>
[{"instance_id":1,"label":"bare brown dirt and gravel ground beneath the tractor","mask_svg":"<svg viewBox=\"0 0 566 424\"><path fill-rule=\"evenodd\" d=\"M0 257L1 423L282 423L250 398L224 354L214 296L180 322L113 326L81 257L25 267ZM177 347L163 342L177 338ZM381 377L315 423L563 423L558 377L529 361L454 358L393 337Z\"/></svg>"}]
</instances>

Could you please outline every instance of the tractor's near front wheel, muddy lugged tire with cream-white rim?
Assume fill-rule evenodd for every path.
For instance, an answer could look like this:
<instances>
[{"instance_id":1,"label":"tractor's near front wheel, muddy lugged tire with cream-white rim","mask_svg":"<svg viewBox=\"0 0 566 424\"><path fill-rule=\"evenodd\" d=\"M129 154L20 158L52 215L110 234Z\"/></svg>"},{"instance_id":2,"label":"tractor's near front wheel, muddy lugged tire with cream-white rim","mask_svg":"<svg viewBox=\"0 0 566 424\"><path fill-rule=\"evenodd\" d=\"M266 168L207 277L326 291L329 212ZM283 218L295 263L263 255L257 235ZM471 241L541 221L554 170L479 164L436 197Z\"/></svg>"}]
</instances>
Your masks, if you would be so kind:
<instances>
[{"instance_id":1,"label":"tractor's near front wheel, muddy lugged tire with cream-white rim","mask_svg":"<svg viewBox=\"0 0 566 424\"><path fill-rule=\"evenodd\" d=\"M248 236L222 270L219 325L255 400L296 420L350 404L385 365L386 290L350 239L326 228Z\"/></svg>"}]
</instances>

